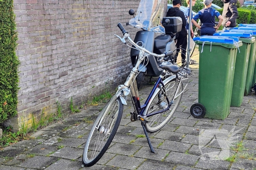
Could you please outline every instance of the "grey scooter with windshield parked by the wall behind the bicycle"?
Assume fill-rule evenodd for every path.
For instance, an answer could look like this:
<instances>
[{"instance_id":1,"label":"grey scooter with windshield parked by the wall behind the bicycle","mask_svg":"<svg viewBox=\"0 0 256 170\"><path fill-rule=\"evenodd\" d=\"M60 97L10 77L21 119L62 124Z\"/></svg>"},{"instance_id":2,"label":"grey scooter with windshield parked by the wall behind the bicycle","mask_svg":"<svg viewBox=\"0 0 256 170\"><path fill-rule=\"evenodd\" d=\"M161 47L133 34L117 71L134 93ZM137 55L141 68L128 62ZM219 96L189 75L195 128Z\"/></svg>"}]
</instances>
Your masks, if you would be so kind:
<instances>
[{"instance_id":1,"label":"grey scooter with windshield parked by the wall behind the bicycle","mask_svg":"<svg viewBox=\"0 0 256 170\"><path fill-rule=\"evenodd\" d=\"M164 5L164 4L160 4ZM175 51L175 35L181 31L182 19L180 17L163 17L163 10L150 13L146 7L139 7L134 17L135 11L129 10L129 15L133 18L126 25L131 25L136 28L141 28L135 35L134 42L141 47L146 48L150 52L162 54L165 51ZM153 16L154 15L154 16ZM148 17L149 16L149 17ZM162 18L162 19L161 19ZM157 36L157 33L161 35ZM139 51L131 48L131 62L136 64L139 56ZM157 77L162 73L159 68L161 63L152 55L148 55L139 67L139 74L136 77L138 89L140 88L145 76ZM151 79L150 79L151 80Z\"/></svg>"}]
</instances>

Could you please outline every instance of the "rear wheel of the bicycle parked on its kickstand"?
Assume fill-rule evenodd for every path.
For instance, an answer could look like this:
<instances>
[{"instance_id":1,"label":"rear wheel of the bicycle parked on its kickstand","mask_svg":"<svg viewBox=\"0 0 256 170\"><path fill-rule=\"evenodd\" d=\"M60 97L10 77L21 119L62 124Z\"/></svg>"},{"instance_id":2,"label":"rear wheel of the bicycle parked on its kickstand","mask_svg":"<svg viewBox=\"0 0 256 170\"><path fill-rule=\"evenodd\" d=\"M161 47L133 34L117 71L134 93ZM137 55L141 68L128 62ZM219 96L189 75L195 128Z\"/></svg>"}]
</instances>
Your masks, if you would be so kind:
<instances>
[{"instance_id":1,"label":"rear wheel of the bicycle parked on its kickstand","mask_svg":"<svg viewBox=\"0 0 256 170\"><path fill-rule=\"evenodd\" d=\"M168 96L169 101L173 100L173 96L178 85L178 82L176 82L176 78L172 78L170 80L166 79L166 81L164 81L164 85L165 92L166 95ZM178 92L180 93L182 91L183 85L181 84ZM170 107L171 110L148 117L148 123L146 123L145 125L147 132L153 133L161 129L163 126L165 126L165 124L169 122L173 114L176 112L178 105L180 104L181 98L182 93L176 99L173 100L174 103ZM165 107L167 108L168 104L167 106L164 104L167 104L167 100L163 95L163 91L160 88L158 88L157 91L155 91L155 93L153 94L150 102L148 103L148 106L145 109L146 115L152 112L161 111L165 109Z\"/></svg>"}]
</instances>

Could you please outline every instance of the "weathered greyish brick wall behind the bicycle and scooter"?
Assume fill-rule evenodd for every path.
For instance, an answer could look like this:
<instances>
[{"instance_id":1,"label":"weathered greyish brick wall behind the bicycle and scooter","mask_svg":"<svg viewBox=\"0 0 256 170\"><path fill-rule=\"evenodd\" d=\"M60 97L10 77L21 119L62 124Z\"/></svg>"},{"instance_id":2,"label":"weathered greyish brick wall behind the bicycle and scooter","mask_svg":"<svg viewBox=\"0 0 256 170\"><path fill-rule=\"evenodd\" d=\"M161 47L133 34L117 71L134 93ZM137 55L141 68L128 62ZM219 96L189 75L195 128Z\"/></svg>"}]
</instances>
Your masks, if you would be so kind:
<instances>
[{"instance_id":1,"label":"weathered greyish brick wall behind the bicycle and scooter","mask_svg":"<svg viewBox=\"0 0 256 170\"><path fill-rule=\"evenodd\" d=\"M166 0L165 0L166 1ZM131 71L129 47L118 22L131 19L139 0L14 0L20 60L18 115L5 124L18 129L42 111L68 111L107 87L123 83ZM134 37L138 29L125 27Z\"/></svg>"}]
</instances>

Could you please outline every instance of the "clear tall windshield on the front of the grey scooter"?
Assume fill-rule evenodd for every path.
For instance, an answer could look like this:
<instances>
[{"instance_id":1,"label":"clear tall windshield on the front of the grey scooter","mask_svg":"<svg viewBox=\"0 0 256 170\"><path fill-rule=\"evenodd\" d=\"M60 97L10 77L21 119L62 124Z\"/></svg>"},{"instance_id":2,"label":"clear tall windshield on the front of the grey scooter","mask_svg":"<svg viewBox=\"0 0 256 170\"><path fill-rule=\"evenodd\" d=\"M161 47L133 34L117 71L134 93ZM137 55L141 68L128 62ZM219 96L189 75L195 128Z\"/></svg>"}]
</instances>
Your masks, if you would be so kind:
<instances>
[{"instance_id":1,"label":"clear tall windshield on the front of the grey scooter","mask_svg":"<svg viewBox=\"0 0 256 170\"><path fill-rule=\"evenodd\" d=\"M141 0L136 17L132 18L129 25L156 33L165 33L162 26L164 0Z\"/></svg>"}]
</instances>

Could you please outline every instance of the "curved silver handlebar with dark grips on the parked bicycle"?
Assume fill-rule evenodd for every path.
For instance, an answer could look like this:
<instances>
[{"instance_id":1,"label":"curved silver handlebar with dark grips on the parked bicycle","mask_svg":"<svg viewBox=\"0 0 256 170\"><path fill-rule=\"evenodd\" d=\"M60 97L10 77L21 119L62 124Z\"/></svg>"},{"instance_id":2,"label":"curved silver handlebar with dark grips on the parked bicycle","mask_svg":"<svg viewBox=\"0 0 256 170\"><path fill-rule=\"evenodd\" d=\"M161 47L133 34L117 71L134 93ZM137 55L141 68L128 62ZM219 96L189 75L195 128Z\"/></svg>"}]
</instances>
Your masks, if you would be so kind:
<instances>
[{"instance_id":1,"label":"curved silver handlebar with dark grips on the parked bicycle","mask_svg":"<svg viewBox=\"0 0 256 170\"><path fill-rule=\"evenodd\" d=\"M124 38L127 39L133 46L135 46L140 51L146 52L148 54L151 54L155 57L161 58L160 62L163 60L167 61L169 59L169 56L173 55L173 51L167 51L163 52L162 54L155 54L153 52L148 51L146 48L138 46L130 37L129 33L124 29L123 25L121 23L117 24L117 27L123 32ZM121 39L121 37L119 37ZM122 39L121 39L122 40Z\"/></svg>"}]
</instances>

